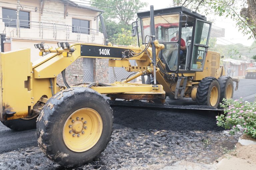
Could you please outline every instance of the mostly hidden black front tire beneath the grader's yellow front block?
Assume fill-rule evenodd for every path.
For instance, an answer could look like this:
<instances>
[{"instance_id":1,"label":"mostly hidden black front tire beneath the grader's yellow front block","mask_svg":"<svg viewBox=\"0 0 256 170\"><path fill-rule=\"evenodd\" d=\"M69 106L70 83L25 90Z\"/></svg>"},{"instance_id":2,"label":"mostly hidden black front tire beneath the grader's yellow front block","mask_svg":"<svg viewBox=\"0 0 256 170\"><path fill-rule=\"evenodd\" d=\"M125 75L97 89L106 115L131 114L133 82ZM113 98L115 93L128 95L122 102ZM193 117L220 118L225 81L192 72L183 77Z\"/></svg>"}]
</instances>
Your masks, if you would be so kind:
<instances>
[{"instance_id":1,"label":"mostly hidden black front tire beneath the grader's yellow front block","mask_svg":"<svg viewBox=\"0 0 256 170\"><path fill-rule=\"evenodd\" d=\"M30 130L36 128L36 119L38 115L35 115L31 118L20 118L20 119L13 119L2 122L6 127L17 130L17 131L23 131L23 130Z\"/></svg>"}]
</instances>

